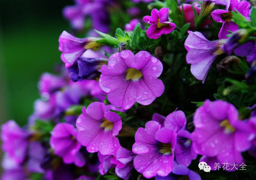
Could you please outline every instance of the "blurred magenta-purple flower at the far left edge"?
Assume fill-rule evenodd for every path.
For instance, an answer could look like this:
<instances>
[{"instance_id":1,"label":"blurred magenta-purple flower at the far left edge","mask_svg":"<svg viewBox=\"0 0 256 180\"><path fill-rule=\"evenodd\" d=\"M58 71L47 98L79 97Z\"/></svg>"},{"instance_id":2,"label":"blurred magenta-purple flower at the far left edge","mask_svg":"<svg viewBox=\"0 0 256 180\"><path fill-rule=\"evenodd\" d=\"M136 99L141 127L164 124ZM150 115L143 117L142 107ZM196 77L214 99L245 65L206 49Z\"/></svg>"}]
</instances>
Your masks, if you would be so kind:
<instances>
[{"instance_id":1,"label":"blurred magenta-purple flower at the far left edge","mask_svg":"<svg viewBox=\"0 0 256 180\"><path fill-rule=\"evenodd\" d=\"M18 164L21 164L26 157L28 138L29 134L13 120L1 126L2 149Z\"/></svg>"}]
</instances>

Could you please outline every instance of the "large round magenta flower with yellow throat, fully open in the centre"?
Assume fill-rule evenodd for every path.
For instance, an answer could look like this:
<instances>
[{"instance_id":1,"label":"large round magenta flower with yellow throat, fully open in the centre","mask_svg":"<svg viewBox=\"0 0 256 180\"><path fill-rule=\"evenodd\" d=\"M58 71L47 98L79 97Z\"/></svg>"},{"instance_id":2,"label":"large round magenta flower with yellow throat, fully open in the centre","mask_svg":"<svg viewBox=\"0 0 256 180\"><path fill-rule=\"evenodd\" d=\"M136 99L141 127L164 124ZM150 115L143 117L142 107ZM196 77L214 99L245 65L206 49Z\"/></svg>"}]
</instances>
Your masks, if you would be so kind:
<instances>
[{"instance_id":1,"label":"large round magenta flower with yellow throat, fully open in the centre","mask_svg":"<svg viewBox=\"0 0 256 180\"><path fill-rule=\"evenodd\" d=\"M108 66L101 67L99 85L117 107L129 109L135 102L148 105L163 94L164 84L157 79L162 70L162 63L149 52L134 55L124 50L113 54Z\"/></svg>"}]
</instances>

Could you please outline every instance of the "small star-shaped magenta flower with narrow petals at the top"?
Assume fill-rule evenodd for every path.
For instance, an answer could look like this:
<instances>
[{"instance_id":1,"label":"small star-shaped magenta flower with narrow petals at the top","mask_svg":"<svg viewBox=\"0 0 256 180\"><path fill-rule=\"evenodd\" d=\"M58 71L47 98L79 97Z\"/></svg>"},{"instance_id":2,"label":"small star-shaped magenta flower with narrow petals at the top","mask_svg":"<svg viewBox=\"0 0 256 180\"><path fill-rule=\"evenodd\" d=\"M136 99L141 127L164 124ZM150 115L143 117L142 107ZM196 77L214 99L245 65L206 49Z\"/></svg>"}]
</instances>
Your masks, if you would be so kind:
<instances>
[{"instance_id":1,"label":"small star-shaped magenta flower with narrow petals at the top","mask_svg":"<svg viewBox=\"0 0 256 180\"><path fill-rule=\"evenodd\" d=\"M169 22L168 8L162 8L159 11L153 9L151 16L144 16L142 20L151 25L146 31L147 36L151 39L157 39L162 34L169 34L176 27L174 23Z\"/></svg>"}]
</instances>

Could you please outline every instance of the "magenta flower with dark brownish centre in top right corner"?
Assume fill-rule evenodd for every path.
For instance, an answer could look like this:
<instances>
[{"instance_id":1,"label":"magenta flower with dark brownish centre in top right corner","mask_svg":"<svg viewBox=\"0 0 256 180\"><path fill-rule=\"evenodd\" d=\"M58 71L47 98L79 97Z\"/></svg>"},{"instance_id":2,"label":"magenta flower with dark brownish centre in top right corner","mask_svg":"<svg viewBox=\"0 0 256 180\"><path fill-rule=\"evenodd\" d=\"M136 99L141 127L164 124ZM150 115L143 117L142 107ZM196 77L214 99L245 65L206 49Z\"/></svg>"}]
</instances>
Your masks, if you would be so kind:
<instances>
[{"instance_id":1,"label":"magenta flower with dark brownish centre in top right corner","mask_svg":"<svg viewBox=\"0 0 256 180\"><path fill-rule=\"evenodd\" d=\"M226 10L216 9L212 11L212 18L219 23L223 23L218 35L219 39L226 39L227 34L229 34L228 31L234 32L238 30L238 25L231 21L231 11L237 10L246 17L249 15L250 6L250 3L247 1L231 0L230 5L226 6Z\"/></svg>"}]
</instances>

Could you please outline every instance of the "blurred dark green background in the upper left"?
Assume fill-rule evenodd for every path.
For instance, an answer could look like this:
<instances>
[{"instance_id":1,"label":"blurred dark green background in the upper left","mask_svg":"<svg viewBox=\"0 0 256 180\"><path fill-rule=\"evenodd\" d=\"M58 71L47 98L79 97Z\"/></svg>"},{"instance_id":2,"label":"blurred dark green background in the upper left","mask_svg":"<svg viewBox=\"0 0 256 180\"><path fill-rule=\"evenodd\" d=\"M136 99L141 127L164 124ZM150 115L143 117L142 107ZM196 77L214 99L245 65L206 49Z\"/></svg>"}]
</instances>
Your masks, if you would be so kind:
<instances>
[{"instance_id":1,"label":"blurred dark green background in the upper left","mask_svg":"<svg viewBox=\"0 0 256 180\"><path fill-rule=\"evenodd\" d=\"M25 125L39 98L37 82L60 60L58 37L72 0L0 0L0 120Z\"/></svg>"}]
</instances>

